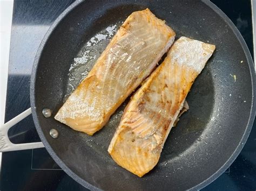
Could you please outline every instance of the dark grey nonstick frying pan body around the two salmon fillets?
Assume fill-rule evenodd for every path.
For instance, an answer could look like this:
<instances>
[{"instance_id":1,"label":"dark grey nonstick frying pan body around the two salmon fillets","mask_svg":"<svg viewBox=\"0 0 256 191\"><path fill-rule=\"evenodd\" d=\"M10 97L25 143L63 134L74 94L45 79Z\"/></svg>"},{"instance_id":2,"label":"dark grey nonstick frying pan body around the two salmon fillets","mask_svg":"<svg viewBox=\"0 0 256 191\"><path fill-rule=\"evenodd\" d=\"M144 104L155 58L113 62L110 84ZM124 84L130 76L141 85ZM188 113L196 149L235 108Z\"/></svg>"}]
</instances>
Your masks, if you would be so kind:
<instances>
[{"instance_id":1,"label":"dark grey nonstick frying pan body around the two salmon fillets","mask_svg":"<svg viewBox=\"0 0 256 191\"><path fill-rule=\"evenodd\" d=\"M145 8L166 20L177 38L211 43L216 51L194 82L187 96L190 110L171 130L158 165L138 178L107 153L129 98L93 137L73 131L53 116L72 91L70 67L74 58L83 55L87 42L109 26L120 26L133 11ZM104 42L92 50L90 65L106 47L107 40ZM76 71L73 88L83 77L80 73L91 67L87 61L82 66ZM210 1L77 1L57 18L38 49L31 76L31 109L51 157L89 189L201 189L232 164L246 142L255 115L254 75L244 39ZM51 117L43 116L44 108L52 110ZM59 133L56 139L49 134L52 128Z\"/></svg>"}]
</instances>

